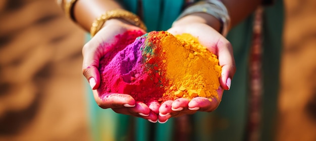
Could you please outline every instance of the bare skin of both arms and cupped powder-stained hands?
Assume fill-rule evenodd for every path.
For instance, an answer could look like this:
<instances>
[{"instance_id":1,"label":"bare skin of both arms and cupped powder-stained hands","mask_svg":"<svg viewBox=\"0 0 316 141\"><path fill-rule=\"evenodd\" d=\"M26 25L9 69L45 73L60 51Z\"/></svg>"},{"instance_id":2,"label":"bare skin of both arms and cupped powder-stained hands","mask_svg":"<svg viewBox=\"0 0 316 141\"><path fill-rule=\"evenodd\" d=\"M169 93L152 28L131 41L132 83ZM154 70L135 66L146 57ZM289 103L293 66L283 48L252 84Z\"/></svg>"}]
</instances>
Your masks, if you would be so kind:
<instances>
[{"instance_id":1,"label":"bare skin of both arms and cupped powder-stained hands","mask_svg":"<svg viewBox=\"0 0 316 141\"><path fill-rule=\"evenodd\" d=\"M229 11L231 26L246 18L261 3L253 0L223 0L222 2ZM74 17L83 29L89 31L94 19L105 11L114 9L123 8L117 2L110 0L80 0L74 7ZM171 117L194 114L196 111L214 111L221 102L224 90L229 90L230 81L236 72L232 45L219 33L220 27L221 24L215 17L204 13L195 13L181 18L168 30L174 35L190 33L197 37L202 45L219 56L219 62L222 66L221 87L218 90L219 99L208 100L207 98L196 97L192 100L179 98L162 104L156 101L142 103L135 101L130 95L126 94L108 94L104 98L100 98L96 91L100 84L100 76L97 69L99 60L111 50L111 48L103 48L102 45L116 42L115 36L128 30L143 31L123 19L108 20L82 49L84 58L82 65L83 75L92 88L96 103L104 109L112 108L117 113L141 117L150 122L159 121L160 123L167 122ZM145 33L145 31L143 32Z\"/></svg>"}]
</instances>

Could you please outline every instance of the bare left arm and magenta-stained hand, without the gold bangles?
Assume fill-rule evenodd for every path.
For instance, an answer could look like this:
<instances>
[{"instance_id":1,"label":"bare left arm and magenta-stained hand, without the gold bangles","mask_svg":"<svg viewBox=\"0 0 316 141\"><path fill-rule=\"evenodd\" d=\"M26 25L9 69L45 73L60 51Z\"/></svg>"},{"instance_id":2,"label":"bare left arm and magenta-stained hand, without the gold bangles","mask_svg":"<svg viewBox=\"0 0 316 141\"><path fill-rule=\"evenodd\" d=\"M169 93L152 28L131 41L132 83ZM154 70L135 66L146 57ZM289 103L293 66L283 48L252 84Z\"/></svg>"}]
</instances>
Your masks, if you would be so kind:
<instances>
[{"instance_id":1,"label":"bare left arm and magenta-stained hand, without the gold bangles","mask_svg":"<svg viewBox=\"0 0 316 141\"><path fill-rule=\"evenodd\" d=\"M87 32L94 20L104 12L123 9L116 1L77 1L73 8L73 20ZM157 120L157 103L144 104L135 101L127 94L100 94L98 88L100 86L99 61L107 53L112 53L115 46L111 46L120 39L117 35L126 32L138 30L142 33L145 31L128 21L121 18L107 20L102 28L89 40L83 47L83 64L82 71L88 80L94 99L101 108L112 108L117 113L142 117L151 121ZM136 37L135 37L136 38ZM155 111L156 113L153 113Z\"/></svg>"}]
</instances>

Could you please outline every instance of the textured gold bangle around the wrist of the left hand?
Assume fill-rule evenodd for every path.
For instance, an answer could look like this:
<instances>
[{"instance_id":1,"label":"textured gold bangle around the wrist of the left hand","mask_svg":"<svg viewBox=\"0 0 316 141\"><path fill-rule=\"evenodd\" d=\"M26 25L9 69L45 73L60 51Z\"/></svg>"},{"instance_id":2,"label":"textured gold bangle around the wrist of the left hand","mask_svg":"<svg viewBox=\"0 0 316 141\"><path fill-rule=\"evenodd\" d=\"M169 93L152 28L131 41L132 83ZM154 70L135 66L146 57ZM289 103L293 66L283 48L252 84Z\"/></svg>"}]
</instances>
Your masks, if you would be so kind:
<instances>
[{"instance_id":1,"label":"textured gold bangle around the wrist of the left hand","mask_svg":"<svg viewBox=\"0 0 316 141\"><path fill-rule=\"evenodd\" d=\"M93 37L102 27L104 23L106 23L107 20L114 19L114 18L122 18L126 20L127 22L138 26L139 28L143 29L144 31L147 30L145 24L140 20L140 18L128 11L117 9L117 10L111 10L104 14L102 14L99 18L95 19L92 23L90 34Z\"/></svg>"}]
</instances>

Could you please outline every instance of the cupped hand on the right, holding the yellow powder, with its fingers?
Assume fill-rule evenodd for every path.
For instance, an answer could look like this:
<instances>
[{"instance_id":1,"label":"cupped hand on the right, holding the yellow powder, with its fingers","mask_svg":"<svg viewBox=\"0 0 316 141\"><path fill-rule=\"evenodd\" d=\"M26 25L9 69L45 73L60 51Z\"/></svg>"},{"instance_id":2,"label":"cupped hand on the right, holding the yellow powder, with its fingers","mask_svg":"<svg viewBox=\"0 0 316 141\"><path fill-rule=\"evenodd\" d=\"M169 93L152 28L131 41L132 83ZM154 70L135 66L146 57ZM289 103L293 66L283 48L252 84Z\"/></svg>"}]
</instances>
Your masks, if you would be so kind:
<instances>
[{"instance_id":1,"label":"cupped hand on the right, holding the yellow powder, with its fingers","mask_svg":"<svg viewBox=\"0 0 316 141\"><path fill-rule=\"evenodd\" d=\"M215 110L222 100L224 90L229 90L231 80L236 72L233 48L230 42L218 31L203 23L178 24L168 30L173 35L189 33L196 37L200 44L219 58L222 66L218 98L207 99L196 97L192 100L179 98L166 101L159 108L159 122L164 123L171 117L185 114L194 114L196 111L211 112Z\"/></svg>"}]
</instances>

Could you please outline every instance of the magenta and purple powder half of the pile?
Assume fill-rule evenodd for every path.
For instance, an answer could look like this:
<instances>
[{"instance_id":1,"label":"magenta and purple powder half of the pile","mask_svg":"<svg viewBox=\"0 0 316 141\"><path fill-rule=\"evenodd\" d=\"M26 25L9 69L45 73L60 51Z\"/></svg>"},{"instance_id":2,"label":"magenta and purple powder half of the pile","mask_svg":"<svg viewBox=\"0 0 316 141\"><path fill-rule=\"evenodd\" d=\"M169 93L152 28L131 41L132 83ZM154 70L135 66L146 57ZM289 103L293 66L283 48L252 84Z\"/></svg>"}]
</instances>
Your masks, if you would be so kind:
<instances>
[{"instance_id":1,"label":"magenta and purple powder half of the pile","mask_svg":"<svg viewBox=\"0 0 316 141\"><path fill-rule=\"evenodd\" d=\"M111 45L115 50L100 60L100 97L110 93L128 94L145 103L162 98L164 87L154 73L157 65L148 62L150 47L144 50L148 34L141 35L140 31L118 35L119 42Z\"/></svg>"}]
</instances>

